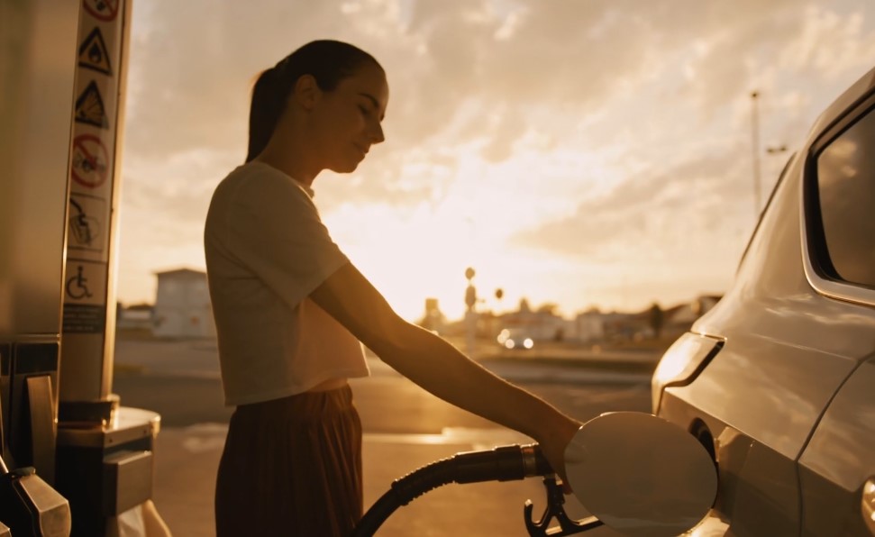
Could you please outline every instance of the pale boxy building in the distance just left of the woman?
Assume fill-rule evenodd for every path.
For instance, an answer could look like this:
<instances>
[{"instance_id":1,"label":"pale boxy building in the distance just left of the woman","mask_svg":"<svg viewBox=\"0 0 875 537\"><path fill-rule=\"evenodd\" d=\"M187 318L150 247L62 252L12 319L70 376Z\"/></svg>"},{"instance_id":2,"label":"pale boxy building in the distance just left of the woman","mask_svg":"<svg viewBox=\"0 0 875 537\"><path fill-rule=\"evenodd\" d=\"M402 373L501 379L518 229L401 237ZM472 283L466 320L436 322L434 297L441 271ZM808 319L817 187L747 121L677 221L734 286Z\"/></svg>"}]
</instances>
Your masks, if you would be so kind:
<instances>
[{"instance_id":1,"label":"pale boxy building in the distance just left of the woman","mask_svg":"<svg viewBox=\"0 0 875 537\"><path fill-rule=\"evenodd\" d=\"M152 332L169 338L215 337L213 306L206 273L177 269L156 272L158 291L152 314Z\"/></svg>"}]
</instances>

